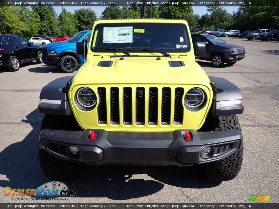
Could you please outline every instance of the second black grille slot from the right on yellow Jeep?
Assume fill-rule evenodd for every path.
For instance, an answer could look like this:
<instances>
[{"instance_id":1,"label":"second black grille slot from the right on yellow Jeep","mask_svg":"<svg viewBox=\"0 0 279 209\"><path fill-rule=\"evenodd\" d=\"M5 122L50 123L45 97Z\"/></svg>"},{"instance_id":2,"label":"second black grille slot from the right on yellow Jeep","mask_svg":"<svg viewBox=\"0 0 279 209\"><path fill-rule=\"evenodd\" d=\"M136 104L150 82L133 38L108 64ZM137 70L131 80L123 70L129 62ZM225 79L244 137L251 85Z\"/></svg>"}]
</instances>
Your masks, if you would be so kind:
<instances>
[{"instance_id":1,"label":"second black grille slot from the right on yellow Jeep","mask_svg":"<svg viewBox=\"0 0 279 209\"><path fill-rule=\"evenodd\" d=\"M169 125L171 118L171 89L162 89L162 125Z\"/></svg>"}]
</instances>

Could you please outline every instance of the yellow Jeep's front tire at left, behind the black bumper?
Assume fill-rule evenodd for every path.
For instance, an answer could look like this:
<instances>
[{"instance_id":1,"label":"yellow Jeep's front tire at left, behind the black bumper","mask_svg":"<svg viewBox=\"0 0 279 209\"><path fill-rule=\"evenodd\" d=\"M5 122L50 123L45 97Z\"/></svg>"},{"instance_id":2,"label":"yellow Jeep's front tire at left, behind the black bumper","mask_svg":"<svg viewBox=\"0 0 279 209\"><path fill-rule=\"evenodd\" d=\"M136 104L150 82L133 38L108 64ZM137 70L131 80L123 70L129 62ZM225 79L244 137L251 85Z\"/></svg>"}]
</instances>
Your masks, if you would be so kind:
<instances>
[{"instance_id":1,"label":"yellow Jeep's front tire at left, behind the black bumper","mask_svg":"<svg viewBox=\"0 0 279 209\"><path fill-rule=\"evenodd\" d=\"M74 117L71 116L56 116L45 114L42 121L41 129L56 129L56 130L72 130L78 131L81 128L76 123ZM57 158L39 145L39 161L42 172L48 179L53 180L69 180L78 176L81 170L80 163L62 160Z\"/></svg>"}]
</instances>

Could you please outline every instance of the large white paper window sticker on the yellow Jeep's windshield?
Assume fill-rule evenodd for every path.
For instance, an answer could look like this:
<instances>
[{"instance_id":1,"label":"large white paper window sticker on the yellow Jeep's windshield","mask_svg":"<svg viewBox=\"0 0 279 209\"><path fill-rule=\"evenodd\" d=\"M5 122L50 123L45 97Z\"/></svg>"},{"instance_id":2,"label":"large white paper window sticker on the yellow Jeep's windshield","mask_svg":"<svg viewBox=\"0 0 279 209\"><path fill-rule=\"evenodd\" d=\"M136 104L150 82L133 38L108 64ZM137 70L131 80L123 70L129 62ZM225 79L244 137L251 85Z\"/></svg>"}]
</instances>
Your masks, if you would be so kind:
<instances>
[{"instance_id":1,"label":"large white paper window sticker on the yellow Jeep's windshield","mask_svg":"<svg viewBox=\"0 0 279 209\"><path fill-rule=\"evenodd\" d=\"M132 42L133 27L104 27L103 44Z\"/></svg>"}]
</instances>

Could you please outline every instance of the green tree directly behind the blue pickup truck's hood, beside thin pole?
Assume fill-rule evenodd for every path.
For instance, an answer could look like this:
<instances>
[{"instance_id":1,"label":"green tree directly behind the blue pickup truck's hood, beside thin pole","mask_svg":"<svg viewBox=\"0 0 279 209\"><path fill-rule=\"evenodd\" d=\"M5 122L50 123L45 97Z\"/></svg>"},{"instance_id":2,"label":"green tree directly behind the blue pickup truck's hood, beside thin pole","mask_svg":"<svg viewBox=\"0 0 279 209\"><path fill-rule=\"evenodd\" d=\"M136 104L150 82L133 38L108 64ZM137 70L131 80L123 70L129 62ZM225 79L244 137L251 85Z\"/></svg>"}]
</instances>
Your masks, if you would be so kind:
<instances>
[{"instance_id":1,"label":"green tree directly behind the blue pickup truck's hood, beside thin pole","mask_svg":"<svg viewBox=\"0 0 279 209\"><path fill-rule=\"evenodd\" d=\"M67 12L66 9L63 9L63 12L58 16L58 28L60 34L62 35L71 35L78 33L78 20L76 16L71 12Z\"/></svg>"}]
</instances>

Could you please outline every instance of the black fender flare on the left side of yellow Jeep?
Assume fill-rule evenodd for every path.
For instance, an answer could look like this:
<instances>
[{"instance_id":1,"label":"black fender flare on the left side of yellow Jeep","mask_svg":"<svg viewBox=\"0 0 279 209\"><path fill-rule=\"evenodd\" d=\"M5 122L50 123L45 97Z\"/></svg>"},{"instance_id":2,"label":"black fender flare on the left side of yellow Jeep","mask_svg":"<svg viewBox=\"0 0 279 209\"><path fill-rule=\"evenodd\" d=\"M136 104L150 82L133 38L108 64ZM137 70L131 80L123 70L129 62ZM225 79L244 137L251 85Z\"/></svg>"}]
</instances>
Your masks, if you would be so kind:
<instances>
[{"instance_id":1,"label":"black fender flare on the left side of yellow Jeep","mask_svg":"<svg viewBox=\"0 0 279 209\"><path fill-rule=\"evenodd\" d=\"M40 99L61 100L62 102L61 107L48 107L39 104L38 110L40 113L65 116L72 115L67 95L72 77L73 76L57 78L43 87L40 93Z\"/></svg>"}]
</instances>

